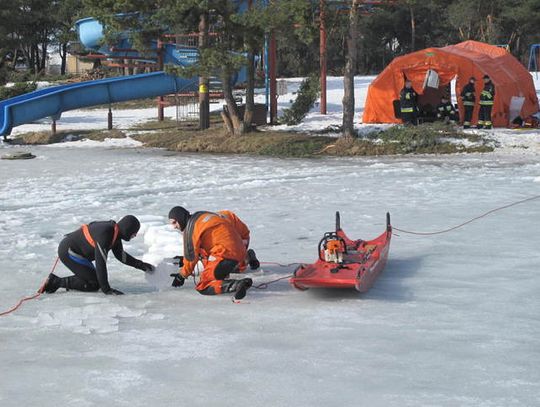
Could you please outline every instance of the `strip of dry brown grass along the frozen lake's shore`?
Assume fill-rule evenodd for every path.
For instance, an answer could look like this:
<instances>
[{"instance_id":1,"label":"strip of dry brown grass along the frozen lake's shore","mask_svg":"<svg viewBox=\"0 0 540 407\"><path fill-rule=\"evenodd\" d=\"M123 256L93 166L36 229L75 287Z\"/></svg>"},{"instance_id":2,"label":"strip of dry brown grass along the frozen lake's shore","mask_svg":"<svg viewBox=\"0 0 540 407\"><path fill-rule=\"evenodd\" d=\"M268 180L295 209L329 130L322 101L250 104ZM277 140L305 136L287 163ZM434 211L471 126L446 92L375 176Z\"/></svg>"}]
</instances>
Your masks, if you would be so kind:
<instances>
[{"instance_id":1,"label":"strip of dry brown grass along the frozen lake's shore","mask_svg":"<svg viewBox=\"0 0 540 407\"><path fill-rule=\"evenodd\" d=\"M210 129L199 131L196 122L176 123L167 119L136 124L127 129L62 130L17 134L8 144L28 147L66 141L130 138L143 148L164 148L168 151L209 154L244 154L282 158L317 157L380 157L400 155L454 155L496 152L496 142L483 135L464 133L456 126L443 123L416 127L393 126L345 139L335 129L323 129L317 134L303 131L282 131L264 127L240 136L227 135L219 119ZM118 140L118 144L122 144Z\"/></svg>"}]
</instances>

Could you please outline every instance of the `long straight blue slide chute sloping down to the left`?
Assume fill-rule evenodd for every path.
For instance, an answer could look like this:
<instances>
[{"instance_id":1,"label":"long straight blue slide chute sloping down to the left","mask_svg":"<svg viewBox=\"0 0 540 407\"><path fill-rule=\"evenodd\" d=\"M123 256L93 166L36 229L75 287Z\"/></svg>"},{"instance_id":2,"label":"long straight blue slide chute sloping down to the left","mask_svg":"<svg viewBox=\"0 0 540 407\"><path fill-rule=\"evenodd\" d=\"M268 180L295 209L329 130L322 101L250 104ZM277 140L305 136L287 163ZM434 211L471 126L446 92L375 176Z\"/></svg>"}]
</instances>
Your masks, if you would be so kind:
<instances>
[{"instance_id":1,"label":"long straight blue slide chute sloping down to the left","mask_svg":"<svg viewBox=\"0 0 540 407\"><path fill-rule=\"evenodd\" d=\"M0 135L44 117L59 118L62 112L132 99L194 91L198 78L185 79L153 72L55 86L0 102Z\"/></svg>"}]
</instances>

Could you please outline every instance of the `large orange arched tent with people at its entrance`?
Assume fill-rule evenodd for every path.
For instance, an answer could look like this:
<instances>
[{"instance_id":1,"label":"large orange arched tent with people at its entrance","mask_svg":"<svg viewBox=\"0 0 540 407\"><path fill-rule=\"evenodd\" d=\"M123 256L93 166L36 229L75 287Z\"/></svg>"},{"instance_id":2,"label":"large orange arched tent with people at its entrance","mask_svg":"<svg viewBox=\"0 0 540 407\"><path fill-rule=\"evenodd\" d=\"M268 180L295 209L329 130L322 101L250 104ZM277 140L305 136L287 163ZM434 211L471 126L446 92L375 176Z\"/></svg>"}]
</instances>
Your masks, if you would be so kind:
<instances>
[{"instance_id":1,"label":"large orange arched tent with people at its entrance","mask_svg":"<svg viewBox=\"0 0 540 407\"><path fill-rule=\"evenodd\" d=\"M428 70L437 72L439 88L426 87L424 81ZM419 94L419 105L431 104L435 107L443 93L456 79L456 95L471 76L476 78L476 101L484 86L482 77L489 75L495 85L495 103L492 112L493 125L506 127L509 124L510 100L513 96L524 97L521 117L538 112L538 98L531 74L506 50L477 41L465 41L443 48L427 48L395 58L368 89L364 109L364 123L401 123L394 115L393 102L399 100L399 93L410 79ZM458 98L460 116L463 105ZM473 123L478 119L479 107L475 107Z\"/></svg>"}]
</instances>

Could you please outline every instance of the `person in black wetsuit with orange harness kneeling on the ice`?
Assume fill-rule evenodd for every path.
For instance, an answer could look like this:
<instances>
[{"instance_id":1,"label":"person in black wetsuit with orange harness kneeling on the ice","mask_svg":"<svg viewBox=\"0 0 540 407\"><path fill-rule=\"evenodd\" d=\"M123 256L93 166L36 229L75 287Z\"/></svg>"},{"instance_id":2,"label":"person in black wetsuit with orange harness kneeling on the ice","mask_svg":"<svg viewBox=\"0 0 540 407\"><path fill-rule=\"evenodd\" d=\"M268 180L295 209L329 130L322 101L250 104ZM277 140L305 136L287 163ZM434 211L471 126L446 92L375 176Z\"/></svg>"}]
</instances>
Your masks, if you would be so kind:
<instances>
[{"instance_id":1,"label":"person in black wetsuit with orange harness kneeling on the ice","mask_svg":"<svg viewBox=\"0 0 540 407\"><path fill-rule=\"evenodd\" d=\"M107 255L112 250L122 263L147 273L152 272L154 266L129 255L122 246L122 240L134 238L140 226L135 216L128 215L118 223L113 220L92 222L67 234L58 246L58 257L74 275L60 278L53 273L49 274L43 291L51 294L59 288L78 291L101 289L105 294L123 294L109 285Z\"/></svg>"}]
</instances>

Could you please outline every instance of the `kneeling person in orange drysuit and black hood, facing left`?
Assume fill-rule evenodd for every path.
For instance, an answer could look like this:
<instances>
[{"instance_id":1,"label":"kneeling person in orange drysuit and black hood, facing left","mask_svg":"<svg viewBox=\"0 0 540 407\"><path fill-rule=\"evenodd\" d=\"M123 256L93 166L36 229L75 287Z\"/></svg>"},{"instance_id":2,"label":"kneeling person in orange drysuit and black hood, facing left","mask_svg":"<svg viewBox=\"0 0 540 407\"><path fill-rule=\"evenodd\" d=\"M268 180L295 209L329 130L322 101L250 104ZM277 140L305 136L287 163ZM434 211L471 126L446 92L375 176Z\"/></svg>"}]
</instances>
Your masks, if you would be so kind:
<instances>
[{"instance_id":1,"label":"kneeling person in orange drysuit and black hood, facing left","mask_svg":"<svg viewBox=\"0 0 540 407\"><path fill-rule=\"evenodd\" d=\"M253 284L251 278L229 279L230 273L245 269L246 246L232 222L217 213L200 211L189 213L181 206L169 211L169 222L183 233L184 256L181 268L174 277L173 287L181 287L199 260L204 270L196 290L203 295L234 292L240 300ZM245 225L244 225L245 226Z\"/></svg>"}]
</instances>

